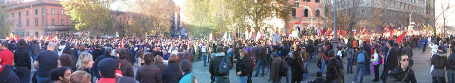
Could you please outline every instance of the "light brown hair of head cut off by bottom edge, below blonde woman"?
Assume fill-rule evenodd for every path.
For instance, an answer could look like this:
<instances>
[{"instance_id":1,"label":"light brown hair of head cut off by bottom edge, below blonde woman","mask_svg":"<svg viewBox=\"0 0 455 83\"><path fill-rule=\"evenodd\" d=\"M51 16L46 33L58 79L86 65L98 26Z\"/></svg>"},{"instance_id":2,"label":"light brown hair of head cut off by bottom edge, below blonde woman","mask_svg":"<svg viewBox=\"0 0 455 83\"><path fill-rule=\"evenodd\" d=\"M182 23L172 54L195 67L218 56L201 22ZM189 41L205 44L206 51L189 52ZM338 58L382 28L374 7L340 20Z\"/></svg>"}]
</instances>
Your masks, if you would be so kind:
<instances>
[{"instance_id":1,"label":"light brown hair of head cut off by bottom edge, below blonde woman","mask_svg":"<svg viewBox=\"0 0 455 83\"><path fill-rule=\"evenodd\" d=\"M70 82L71 83L87 83L87 82L90 82L90 78L92 78L92 75L90 75L88 72L85 72L82 70L77 70L71 74Z\"/></svg>"}]
</instances>

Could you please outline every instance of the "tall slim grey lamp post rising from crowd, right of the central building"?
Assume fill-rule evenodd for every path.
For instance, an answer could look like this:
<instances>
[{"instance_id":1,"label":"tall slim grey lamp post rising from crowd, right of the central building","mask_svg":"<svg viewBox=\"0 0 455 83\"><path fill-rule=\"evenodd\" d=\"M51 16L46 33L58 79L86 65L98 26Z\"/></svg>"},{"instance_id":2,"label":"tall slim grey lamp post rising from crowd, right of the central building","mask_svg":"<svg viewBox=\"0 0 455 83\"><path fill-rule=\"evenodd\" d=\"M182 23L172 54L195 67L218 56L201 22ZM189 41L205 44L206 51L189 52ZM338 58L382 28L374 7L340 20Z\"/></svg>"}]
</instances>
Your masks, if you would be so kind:
<instances>
[{"instance_id":1,"label":"tall slim grey lamp post rising from crowd, right of the central building","mask_svg":"<svg viewBox=\"0 0 455 83\"><path fill-rule=\"evenodd\" d=\"M336 46L338 45L338 38L337 38L337 0L334 1L334 4L333 4L333 40L332 40L332 46L333 46L333 50L334 51L337 51L337 48Z\"/></svg>"}]
</instances>

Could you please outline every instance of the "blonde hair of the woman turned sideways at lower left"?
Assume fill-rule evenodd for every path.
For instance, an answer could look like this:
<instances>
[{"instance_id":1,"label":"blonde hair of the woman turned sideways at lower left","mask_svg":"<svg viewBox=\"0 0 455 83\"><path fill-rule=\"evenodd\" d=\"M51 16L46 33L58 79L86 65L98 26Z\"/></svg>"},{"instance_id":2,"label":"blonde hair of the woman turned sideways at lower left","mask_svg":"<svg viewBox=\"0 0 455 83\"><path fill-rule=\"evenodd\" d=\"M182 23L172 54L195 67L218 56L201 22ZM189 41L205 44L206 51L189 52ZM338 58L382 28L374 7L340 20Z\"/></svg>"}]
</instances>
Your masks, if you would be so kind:
<instances>
[{"instance_id":1,"label":"blonde hair of the woman turned sideways at lower left","mask_svg":"<svg viewBox=\"0 0 455 83\"><path fill-rule=\"evenodd\" d=\"M77 69L84 69L87 68L87 65L90 61L93 61L92 54L82 52L79 55L79 60L77 60L76 67Z\"/></svg>"}]
</instances>

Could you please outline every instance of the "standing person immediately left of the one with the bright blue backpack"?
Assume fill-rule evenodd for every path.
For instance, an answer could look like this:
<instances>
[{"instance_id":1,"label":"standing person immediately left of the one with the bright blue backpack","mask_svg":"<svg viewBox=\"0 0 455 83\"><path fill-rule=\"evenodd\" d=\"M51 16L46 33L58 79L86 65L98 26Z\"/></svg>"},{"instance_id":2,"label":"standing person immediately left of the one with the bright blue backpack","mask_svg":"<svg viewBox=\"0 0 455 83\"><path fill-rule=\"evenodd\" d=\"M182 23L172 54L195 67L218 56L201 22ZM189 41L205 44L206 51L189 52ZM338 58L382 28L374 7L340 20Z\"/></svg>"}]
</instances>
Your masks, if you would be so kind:
<instances>
[{"instance_id":1,"label":"standing person immediately left of the one with the bright blue backpack","mask_svg":"<svg viewBox=\"0 0 455 83\"><path fill-rule=\"evenodd\" d=\"M354 73L352 72L352 65L354 64L354 49L352 49L352 44L348 44L348 49L346 51L344 51L344 53L346 54L346 58L347 58L347 70L346 70L346 73Z\"/></svg>"}]
</instances>

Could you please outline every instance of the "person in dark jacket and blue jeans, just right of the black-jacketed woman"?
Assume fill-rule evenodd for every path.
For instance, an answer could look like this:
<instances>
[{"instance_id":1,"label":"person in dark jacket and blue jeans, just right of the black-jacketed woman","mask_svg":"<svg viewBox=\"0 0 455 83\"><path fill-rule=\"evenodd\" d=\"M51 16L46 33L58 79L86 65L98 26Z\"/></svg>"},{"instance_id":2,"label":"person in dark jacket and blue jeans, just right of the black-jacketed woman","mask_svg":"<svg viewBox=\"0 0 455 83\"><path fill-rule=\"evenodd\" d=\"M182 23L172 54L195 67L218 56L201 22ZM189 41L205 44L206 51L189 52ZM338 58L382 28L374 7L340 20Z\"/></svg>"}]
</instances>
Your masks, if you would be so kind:
<instances>
[{"instance_id":1,"label":"person in dark jacket and blue jeans, just right of the black-jacketed woman","mask_svg":"<svg viewBox=\"0 0 455 83\"><path fill-rule=\"evenodd\" d=\"M261 69L261 67L262 67L262 73L264 73L264 68L266 67L264 46L260 46L259 49L260 50L257 54L257 60L258 60L257 61L257 70L256 70L256 74L254 74L254 76L258 75L259 69ZM261 74L261 76L264 76L264 74Z\"/></svg>"}]
</instances>

